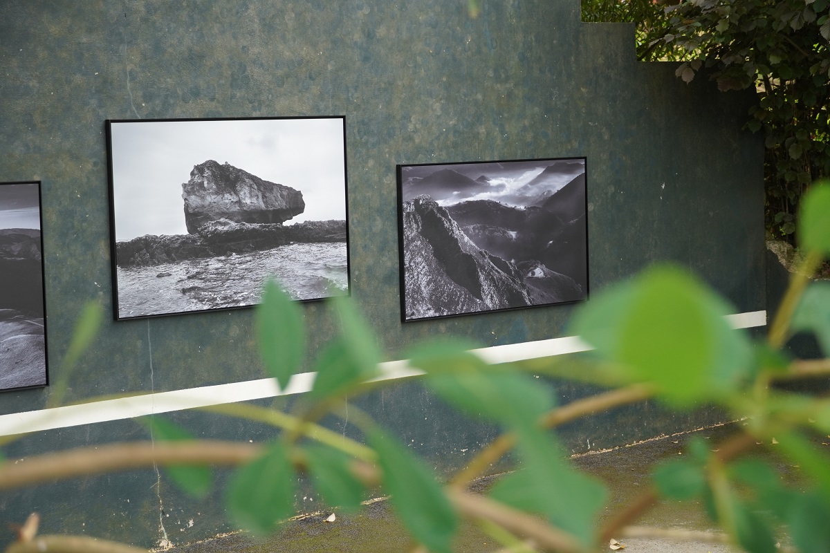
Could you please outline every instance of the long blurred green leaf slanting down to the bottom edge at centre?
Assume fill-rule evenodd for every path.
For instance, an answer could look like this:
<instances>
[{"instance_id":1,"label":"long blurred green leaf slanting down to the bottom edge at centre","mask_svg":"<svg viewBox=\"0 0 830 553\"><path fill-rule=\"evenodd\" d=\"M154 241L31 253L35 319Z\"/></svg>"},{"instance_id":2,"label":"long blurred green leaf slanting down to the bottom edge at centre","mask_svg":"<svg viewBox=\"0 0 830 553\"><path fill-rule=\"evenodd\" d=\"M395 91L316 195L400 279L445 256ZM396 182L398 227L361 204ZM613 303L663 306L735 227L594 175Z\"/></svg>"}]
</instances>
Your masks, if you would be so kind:
<instances>
[{"instance_id":1,"label":"long blurred green leaf slanting down to the bottom edge at centre","mask_svg":"<svg viewBox=\"0 0 830 553\"><path fill-rule=\"evenodd\" d=\"M380 429L367 433L378 452L383 485L413 538L435 553L450 553L450 540L458 524L447 497L434 475L403 445Z\"/></svg>"}]
</instances>

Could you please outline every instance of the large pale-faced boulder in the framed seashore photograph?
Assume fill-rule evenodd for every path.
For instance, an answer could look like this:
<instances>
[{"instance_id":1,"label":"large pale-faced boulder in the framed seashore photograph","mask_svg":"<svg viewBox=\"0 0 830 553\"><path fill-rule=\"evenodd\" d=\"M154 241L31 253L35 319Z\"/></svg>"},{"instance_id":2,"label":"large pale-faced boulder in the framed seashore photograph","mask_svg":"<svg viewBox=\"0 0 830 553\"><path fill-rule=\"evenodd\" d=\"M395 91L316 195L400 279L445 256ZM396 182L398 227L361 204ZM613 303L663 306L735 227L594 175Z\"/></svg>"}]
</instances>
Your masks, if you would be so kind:
<instances>
[{"instance_id":1,"label":"large pale-faced boulder in the framed seashore photograph","mask_svg":"<svg viewBox=\"0 0 830 553\"><path fill-rule=\"evenodd\" d=\"M182 199L190 234L210 221L274 224L305 211L299 190L212 159L193 167L190 180L182 184Z\"/></svg>"}]
</instances>

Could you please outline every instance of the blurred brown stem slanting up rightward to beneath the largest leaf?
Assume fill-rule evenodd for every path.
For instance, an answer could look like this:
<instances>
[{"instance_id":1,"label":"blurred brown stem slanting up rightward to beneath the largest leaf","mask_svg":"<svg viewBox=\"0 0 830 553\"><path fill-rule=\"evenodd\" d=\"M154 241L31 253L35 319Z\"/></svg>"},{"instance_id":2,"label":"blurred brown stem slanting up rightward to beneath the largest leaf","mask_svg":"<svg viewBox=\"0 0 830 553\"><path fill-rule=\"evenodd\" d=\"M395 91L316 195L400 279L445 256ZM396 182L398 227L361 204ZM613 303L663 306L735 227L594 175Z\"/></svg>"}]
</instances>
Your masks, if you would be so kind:
<instances>
[{"instance_id":1,"label":"blurred brown stem slanting up rightward to beneath the largest leaf","mask_svg":"<svg viewBox=\"0 0 830 553\"><path fill-rule=\"evenodd\" d=\"M551 429L559 426L559 424L564 424L586 415L592 415L593 413L613 409L620 405L628 405L636 403L637 401L646 400L652 393L652 386L645 384L635 384L618 390L610 390L603 394L592 395L583 400L573 401L568 405L564 405L564 407L551 410L540 419L539 424L542 428ZM458 488L466 486L467 483L470 483L474 478L478 477L492 463L496 463L510 449L513 449L515 443L516 435L514 432L501 434L487 445L485 449L482 449L465 468L462 468L452 478L450 484Z\"/></svg>"}]
</instances>

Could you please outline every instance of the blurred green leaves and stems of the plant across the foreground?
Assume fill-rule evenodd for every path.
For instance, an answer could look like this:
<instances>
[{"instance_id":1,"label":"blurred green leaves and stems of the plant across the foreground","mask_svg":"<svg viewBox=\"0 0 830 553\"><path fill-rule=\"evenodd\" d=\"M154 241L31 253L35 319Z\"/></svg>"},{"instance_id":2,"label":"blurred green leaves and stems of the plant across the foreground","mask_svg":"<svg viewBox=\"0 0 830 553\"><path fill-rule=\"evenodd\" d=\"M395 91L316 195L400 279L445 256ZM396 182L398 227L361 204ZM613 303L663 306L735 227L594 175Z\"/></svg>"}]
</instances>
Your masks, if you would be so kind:
<instances>
[{"instance_id":1,"label":"blurred green leaves and stems of the plant across the foreground","mask_svg":"<svg viewBox=\"0 0 830 553\"><path fill-rule=\"evenodd\" d=\"M802 202L799 235L810 250L806 264L819 255L830 255L828 190L827 184L815 185ZM813 332L827 351L830 288L826 283L813 283L805 290L802 284L803 279L793 279L785 299L792 309L779 309L784 315L777 317L780 320L773 329L783 325L784 334ZM457 409L496 421L509 431L465 469L486 470L493 459L514 450L519 470L500 478L487 500L448 492L426 463L356 407L349 409L350 420L363 431L372 449L312 424L325 412L336 412L344 395L351 398L373 389L362 384L378 374L381 359L369 325L354 306L344 298L331 303L342 321L342 332L316 360L319 375L305 398L311 404L304 411L305 418L268 411L274 416L264 417L259 410L244 411L251 419L268 420L286 430L258 457L237 468L227 487L232 520L256 535L276 531L281 521L294 514L296 483L305 474L326 502L347 511L359 509L367 489L390 495L413 539L435 553L451 551L458 512L481 519L490 535L500 536L505 543L515 545L514 533L530 539L555 535L562 540L554 547L558 551L588 551L602 535L598 514L608 492L569 462L556 436L544 425L569 420L574 413L621 405L621 397L641 401L642 390L653 390L652 395L677 410L716 403L734 419L745 420L737 435L718 448L691 439L682 459L658 463L652 483L659 496L702 502L730 540L750 553L774 553L779 524L786 527L800 551L827 551L830 455L811 436L816 430L830 433L830 400L771 386L776 378L803 374L799 361L790 361L779 351L773 332L766 342L757 344L744 330L731 329L725 321L732 311L728 304L684 269L666 264L647 269L608 286L575 313L575 332L596 347L593 357L580 358L582 366L589 367L585 370L602 373L603 381L635 385L579 400L579 409L571 409L574 405L557 409L549 379L534 378L510 364L488 365L469 351L475 344L445 340L413 348L410 363L424 371L424 386ZM793 313L791 320L787 313ZM94 317L89 321L95 323ZM90 342L92 323L81 325L81 343ZM268 284L256 323L261 342L267 342L260 346L266 368L286 386L303 369L305 330L299 304ZM814 361L813 372L816 365L821 374L830 375L830 360ZM182 444L193 440L187 430L158 416L142 422L154 439ZM321 443L309 444L306 439ZM0 439L0 444L9 440ZM777 453L798 465L808 491L782 482L769 463L736 459L759 443L775 444ZM227 456L220 458L227 462ZM211 485L207 468L178 466L178 459L164 463L170 478L188 492L206 492ZM156 458L152 461L156 463ZM0 466L0 477L9 464ZM462 487L466 482L457 478L452 486ZM646 499L652 501L652 492ZM471 508L471 502L479 502L477 508ZM540 518L528 525L527 514ZM623 521L632 522L625 517ZM534 536L538 524L549 526Z\"/></svg>"}]
</instances>

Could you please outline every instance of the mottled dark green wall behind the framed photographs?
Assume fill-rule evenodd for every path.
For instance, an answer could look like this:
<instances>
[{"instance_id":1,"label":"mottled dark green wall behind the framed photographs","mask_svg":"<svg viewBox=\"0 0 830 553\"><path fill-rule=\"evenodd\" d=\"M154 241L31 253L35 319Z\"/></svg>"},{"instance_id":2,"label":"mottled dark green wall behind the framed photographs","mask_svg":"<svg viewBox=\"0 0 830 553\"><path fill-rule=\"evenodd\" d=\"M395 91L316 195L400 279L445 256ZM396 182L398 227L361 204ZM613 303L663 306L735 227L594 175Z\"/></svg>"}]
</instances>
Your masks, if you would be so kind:
<instances>
[{"instance_id":1,"label":"mottled dark green wall behind the framed photographs","mask_svg":"<svg viewBox=\"0 0 830 553\"><path fill-rule=\"evenodd\" d=\"M0 181L42 182L51 381L82 305L98 299L111 312L105 119L344 115L352 295L390 360L428 337L495 346L564 336L572 311L402 325L398 163L585 156L592 292L676 260L737 313L763 310L763 151L741 130L751 97L703 79L686 85L672 64L637 62L632 27L582 23L576 0L482 3L471 18L461 0L5 2ZM339 323L324 303L303 311L313 359ZM253 335L250 309L108 320L66 401L261 378ZM52 390L2 392L0 415L38 410ZM588 391L559 389L564 400ZM495 433L408 382L361 405L445 470ZM171 416L206 438L273 435L216 415ZM719 416L637 405L573 425L565 440L583 451ZM112 420L33 434L3 453L146 437L133 421ZM221 485L195 502L138 471L3 493L0 510L9 521L39 510L45 533L151 546L164 536L159 521L174 541L227 530L220 498Z\"/></svg>"}]
</instances>

